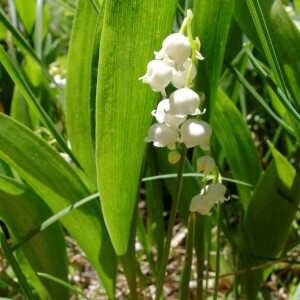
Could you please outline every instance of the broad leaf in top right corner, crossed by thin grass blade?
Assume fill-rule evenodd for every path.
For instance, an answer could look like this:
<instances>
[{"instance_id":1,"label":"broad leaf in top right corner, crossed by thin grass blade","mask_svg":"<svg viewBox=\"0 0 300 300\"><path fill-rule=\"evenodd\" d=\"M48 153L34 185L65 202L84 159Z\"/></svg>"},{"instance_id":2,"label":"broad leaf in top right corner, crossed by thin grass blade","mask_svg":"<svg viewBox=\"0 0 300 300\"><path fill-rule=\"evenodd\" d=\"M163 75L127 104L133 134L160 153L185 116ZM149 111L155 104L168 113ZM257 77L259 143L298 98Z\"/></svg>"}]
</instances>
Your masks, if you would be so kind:
<instances>
[{"instance_id":1,"label":"broad leaf in top right corner, crossed by thin grass blade","mask_svg":"<svg viewBox=\"0 0 300 300\"><path fill-rule=\"evenodd\" d=\"M300 87L298 79L300 77L300 33L284 7L281 5L280 1L264 0L260 1L260 6L265 25L268 28L273 51L275 51L278 59L276 68L283 71L286 84L296 101L297 107L299 108ZM235 1L234 14L242 30L247 34L249 39L255 44L261 53L264 54L266 49L262 46L262 40L258 36L254 22L249 14L246 1ZM259 20L260 22L263 22L261 18ZM273 72L274 68L272 69Z\"/></svg>"}]
</instances>

